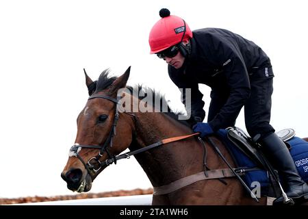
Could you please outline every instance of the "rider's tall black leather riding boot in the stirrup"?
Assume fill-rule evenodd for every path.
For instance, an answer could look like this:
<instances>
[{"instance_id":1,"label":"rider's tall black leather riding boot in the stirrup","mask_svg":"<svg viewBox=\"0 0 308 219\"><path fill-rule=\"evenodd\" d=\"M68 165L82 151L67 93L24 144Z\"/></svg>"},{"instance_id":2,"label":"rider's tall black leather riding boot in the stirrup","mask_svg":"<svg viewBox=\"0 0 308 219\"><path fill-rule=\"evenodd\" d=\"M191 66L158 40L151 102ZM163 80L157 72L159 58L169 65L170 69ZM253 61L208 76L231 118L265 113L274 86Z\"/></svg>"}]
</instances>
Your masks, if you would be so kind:
<instances>
[{"instance_id":1,"label":"rider's tall black leather riding boot in the stirrup","mask_svg":"<svg viewBox=\"0 0 308 219\"><path fill-rule=\"evenodd\" d=\"M294 160L285 143L275 134L260 141L261 151L268 157L270 164L279 172L279 176L285 183L283 190L295 204L308 202L308 185L298 175ZM273 205L283 204L283 197L274 200Z\"/></svg>"}]
</instances>

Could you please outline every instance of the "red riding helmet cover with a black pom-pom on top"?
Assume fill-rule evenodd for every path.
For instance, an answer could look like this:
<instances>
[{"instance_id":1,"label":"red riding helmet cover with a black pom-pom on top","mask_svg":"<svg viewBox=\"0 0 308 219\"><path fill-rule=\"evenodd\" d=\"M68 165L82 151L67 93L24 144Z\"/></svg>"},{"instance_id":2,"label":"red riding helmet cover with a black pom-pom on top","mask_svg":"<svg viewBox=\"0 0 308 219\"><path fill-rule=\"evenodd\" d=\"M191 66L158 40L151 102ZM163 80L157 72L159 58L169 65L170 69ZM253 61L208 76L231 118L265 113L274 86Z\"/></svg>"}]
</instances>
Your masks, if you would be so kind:
<instances>
[{"instance_id":1,"label":"red riding helmet cover with a black pom-pom on top","mask_svg":"<svg viewBox=\"0 0 308 219\"><path fill-rule=\"evenodd\" d=\"M182 18L170 15L166 8L160 10L159 15L162 18L155 23L149 35L151 54L163 51L181 40L192 38L192 31Z\"/></svg>"}]
</instances>

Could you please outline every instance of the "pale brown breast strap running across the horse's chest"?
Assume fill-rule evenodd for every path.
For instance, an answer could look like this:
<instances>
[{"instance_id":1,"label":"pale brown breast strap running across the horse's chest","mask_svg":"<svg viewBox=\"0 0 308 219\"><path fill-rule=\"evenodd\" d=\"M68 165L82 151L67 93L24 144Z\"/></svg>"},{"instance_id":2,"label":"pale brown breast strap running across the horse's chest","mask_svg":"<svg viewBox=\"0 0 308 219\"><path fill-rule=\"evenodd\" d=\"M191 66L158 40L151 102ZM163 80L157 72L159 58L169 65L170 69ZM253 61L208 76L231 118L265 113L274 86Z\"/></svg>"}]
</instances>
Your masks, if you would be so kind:
<instances>
[{"instance_id":1,"label":"pale brown breast strap running across the horse's chest","mask_svg":"<svg viewBox=\"0 0 308 219\"><path fill-rule=\"evenodd\" d=\"M234 168L234 170L237 170ZM205 172L207 173L205 175ZM217 169L217 170L207 170L207 171L198 172L195 175L190 175L188 177L183 177L168 185L162 185L159 187L153 188L153 195L159 196L161 194L168 194L170 192L175 192L180 188L183 188L192 183L196 183L197 181L207 180L207 179L220 179L226 177L234 177L233 172L229 168L225 169ZM239 173L238 175L243 175L244 173Z\"/></svg>"}]
</instances>

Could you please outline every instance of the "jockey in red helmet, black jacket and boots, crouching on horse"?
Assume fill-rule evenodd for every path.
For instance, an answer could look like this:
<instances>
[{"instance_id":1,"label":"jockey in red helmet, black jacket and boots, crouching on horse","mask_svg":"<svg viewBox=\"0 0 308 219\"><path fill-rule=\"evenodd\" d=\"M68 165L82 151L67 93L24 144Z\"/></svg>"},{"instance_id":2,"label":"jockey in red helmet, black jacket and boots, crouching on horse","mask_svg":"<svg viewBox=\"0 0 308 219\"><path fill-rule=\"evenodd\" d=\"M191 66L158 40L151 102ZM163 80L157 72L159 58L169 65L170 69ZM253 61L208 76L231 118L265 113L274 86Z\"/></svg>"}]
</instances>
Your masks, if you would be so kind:
<instances>
[{"instance_id":1,"label":"jockey in red helmet, black jacket and boots, crouching on horse","mask_svg":"<svg viewBox=\"0 0 308 219\"><path fill-rule=\"evenodd\" d=\"M261 136L261 150L286 182L287 196L298 203L308 201L308 185L270 125L274 74L268 55L254 42L226 29L191 31L168 9L163 8L159 15L162 18L149 34L151 54L166 61L170 79L178 88L191 89L190 123L194 132L205 137L234 126L244 106L246 129L252 138ZM198 83L211 88L207 123L202 123L205 111ZM182 96L185 104L185 93ZM274 203L282 201L279 197Z\"/></svg>"}]
</instances>

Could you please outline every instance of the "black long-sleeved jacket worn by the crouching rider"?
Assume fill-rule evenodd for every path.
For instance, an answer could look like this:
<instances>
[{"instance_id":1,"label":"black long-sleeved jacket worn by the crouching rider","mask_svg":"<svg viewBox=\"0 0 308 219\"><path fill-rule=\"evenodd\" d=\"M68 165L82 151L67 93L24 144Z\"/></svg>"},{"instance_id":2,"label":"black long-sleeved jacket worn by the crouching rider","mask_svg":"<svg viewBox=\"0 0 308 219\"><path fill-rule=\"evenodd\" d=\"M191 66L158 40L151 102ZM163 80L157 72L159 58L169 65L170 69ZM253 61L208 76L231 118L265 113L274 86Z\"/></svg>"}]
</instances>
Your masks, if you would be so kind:
<instances>
[{"instance_id":1,"label":"black long-sleeved jacket worn by the crouching rider","mask_svg":"<svg viewBox=\"0 0 308 219\"><path fill-rule=\"evenodd\" d=\"M203 94L198 83L211 90L229 93L227 103L209 125L217 131L238 116L250 96L250 80L257 68L270 67L270 59L254 42L226 29L205 28L193 31L192 51L183 66L168 65L168 73L178 88L192 89L192 116L205 118ZM273 76L273 75L271 75ZM185 104L185 94L183 94Z\"/></svg>"}]
</instances>

